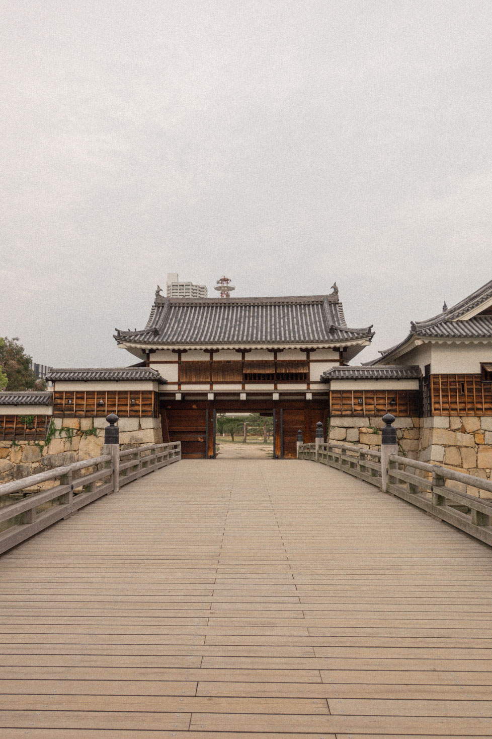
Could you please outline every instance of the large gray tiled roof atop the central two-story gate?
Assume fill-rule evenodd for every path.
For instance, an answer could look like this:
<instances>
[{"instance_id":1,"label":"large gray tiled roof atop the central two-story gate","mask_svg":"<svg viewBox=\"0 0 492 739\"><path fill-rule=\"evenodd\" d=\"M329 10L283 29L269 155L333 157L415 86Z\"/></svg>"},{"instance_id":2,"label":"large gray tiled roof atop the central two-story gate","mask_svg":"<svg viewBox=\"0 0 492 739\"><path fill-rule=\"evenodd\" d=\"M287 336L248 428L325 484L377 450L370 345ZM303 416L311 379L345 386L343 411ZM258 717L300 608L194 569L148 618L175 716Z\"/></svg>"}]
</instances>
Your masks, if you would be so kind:
<instances>
[{"instance_id":1,"label":"large gray tiled roof atop the central two-story gate","mask_svg":"<svg viewBox=\"0 0 492 739\"><path fill-rule=\"evenodd\" d=\"M286 298L156 298L145 329L121 331L125 344L333 344L364 341L372 327L347 327L336 293Z\"/></svg>"}]
</instances>

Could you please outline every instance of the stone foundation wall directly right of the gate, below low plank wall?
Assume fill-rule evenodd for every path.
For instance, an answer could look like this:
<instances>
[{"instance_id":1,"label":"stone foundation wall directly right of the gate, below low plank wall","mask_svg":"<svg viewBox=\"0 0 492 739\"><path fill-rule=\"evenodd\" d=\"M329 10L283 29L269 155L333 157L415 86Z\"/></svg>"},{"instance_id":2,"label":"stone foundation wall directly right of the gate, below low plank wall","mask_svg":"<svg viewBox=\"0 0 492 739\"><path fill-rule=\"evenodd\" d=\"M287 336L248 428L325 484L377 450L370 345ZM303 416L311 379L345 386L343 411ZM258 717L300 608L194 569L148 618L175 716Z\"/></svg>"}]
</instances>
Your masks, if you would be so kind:
<instances>
[{"instance_id":1,"label":"stone foundation wall directly right of the gate, below low plank wall","mask_svg":"<svg viewBox=\"0 0 492 739\"><path fill-rule=\"evenodd\" d=\"M364 416L332 416L328 429L328 440L343 441L360 446L362 449L381 449L381 429L384 423L381 418ZM420 418L403 416L397 418L393 427L396 429L398 448L403 457L418 459L420 452Z\"/></svg>"}]
</instances>

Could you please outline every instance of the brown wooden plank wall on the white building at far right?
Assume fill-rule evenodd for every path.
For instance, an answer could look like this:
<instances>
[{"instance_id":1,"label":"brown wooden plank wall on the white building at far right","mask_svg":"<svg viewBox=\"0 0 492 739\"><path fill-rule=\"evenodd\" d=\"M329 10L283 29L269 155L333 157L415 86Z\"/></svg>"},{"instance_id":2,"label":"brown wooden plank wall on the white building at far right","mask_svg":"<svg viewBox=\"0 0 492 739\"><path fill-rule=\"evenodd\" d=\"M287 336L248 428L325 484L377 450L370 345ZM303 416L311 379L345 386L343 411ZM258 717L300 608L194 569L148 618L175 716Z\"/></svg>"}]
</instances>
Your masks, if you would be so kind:
<instances>
[{"instance_id":1,"label":"brown wooden plank wall on the white building at far right","mask_svg":"<svg viewBox=\"0 0 492 739\"><path fill-rule=\"evenodd\" d=\"M492 383L482 376L431 375L432 415L492 415Z\"/></svg>"}]
</instances>

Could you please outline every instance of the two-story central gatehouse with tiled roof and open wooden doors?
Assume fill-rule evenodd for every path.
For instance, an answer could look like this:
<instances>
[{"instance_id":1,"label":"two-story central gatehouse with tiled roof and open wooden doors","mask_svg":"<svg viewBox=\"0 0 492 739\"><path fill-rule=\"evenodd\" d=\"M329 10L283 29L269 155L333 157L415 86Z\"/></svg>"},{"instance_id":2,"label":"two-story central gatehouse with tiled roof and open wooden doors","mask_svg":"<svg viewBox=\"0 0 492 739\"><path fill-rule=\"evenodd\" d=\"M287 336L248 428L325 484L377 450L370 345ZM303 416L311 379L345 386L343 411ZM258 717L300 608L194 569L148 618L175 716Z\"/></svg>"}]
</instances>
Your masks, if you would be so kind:
<instances>
[{"instance_id":1,"label":"two-story central gatehouse with tiled roof and open wooden doors","mask_svg":"<svg viewBox=\"0 0 492 739\"><path fill-rule=\"evenodd\" d=\"M274 418L274 454L294 457L297 430L311 440L326 426L321 375L347 364L373 338L349 328L336 285L329 295L273 298L168 298L156 291L148 323L117 331L119 347L159 372L163 440L184 457L213 457L217 412Z\"/></svg>"}]
</instances>

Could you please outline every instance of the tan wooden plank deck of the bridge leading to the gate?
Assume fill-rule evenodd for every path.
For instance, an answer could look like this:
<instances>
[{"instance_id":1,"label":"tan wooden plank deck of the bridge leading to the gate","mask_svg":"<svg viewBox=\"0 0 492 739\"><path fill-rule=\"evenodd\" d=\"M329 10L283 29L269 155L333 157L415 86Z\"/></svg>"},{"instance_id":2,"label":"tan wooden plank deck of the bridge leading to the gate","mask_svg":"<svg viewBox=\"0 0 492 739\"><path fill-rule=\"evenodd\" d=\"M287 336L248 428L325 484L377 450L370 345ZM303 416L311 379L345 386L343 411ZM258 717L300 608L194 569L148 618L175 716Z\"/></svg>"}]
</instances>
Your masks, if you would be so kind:
<instances>
[{"instance_id":1,"label":"tan wooden plank deck of the bridge leading to the gate","mask_svg":"<svg viewBox=\"0 0 492 739\"><path fill-rule=\"evenodd\" d=\"M316 463L173 464L1 557L0 736L490 737L491 565Z\"/></svg>"}]
</instances>

